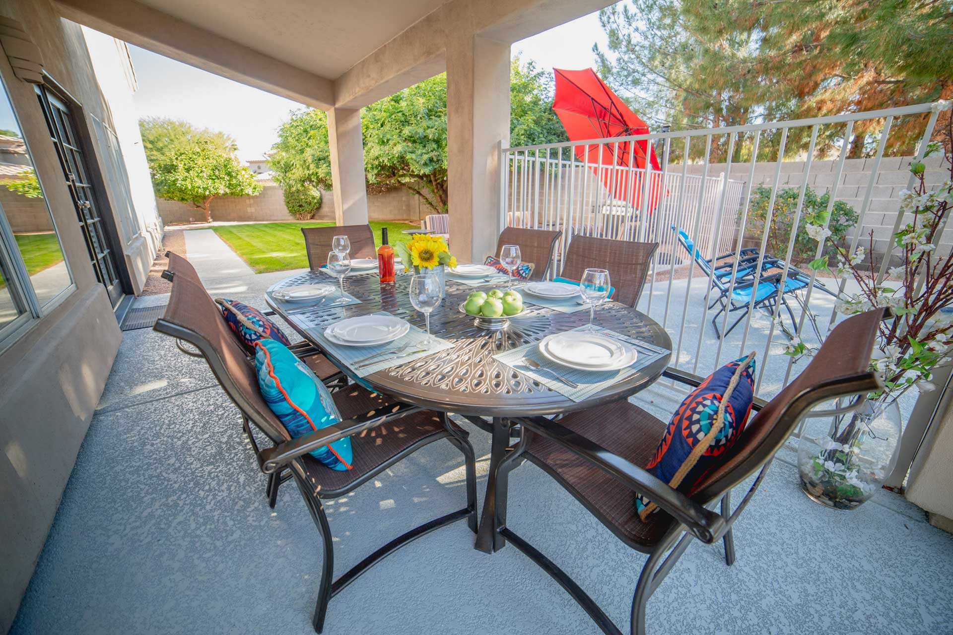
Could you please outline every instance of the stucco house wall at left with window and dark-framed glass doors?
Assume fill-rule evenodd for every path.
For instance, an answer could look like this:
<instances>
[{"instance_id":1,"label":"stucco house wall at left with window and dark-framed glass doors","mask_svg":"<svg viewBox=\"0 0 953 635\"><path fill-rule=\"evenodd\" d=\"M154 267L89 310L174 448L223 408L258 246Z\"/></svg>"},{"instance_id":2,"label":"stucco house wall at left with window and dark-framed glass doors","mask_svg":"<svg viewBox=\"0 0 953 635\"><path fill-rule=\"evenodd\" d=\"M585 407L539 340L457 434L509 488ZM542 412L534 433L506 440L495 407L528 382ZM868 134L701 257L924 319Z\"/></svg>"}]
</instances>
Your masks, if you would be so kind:
<instances>
[{"instance_id":1,"label":"stucco house wall at left with window and dark-framed glass doors","mask_svg":"<svg viewBox=\"0 0 953 635\"><path fill-rule=\"evenodd\" d=\"M162 237L126 44L45 0L2 7L0 632L112 367L117 311L141 291ZM9 187L30 171L32 189Z\"/></svg>"}]
</instances>

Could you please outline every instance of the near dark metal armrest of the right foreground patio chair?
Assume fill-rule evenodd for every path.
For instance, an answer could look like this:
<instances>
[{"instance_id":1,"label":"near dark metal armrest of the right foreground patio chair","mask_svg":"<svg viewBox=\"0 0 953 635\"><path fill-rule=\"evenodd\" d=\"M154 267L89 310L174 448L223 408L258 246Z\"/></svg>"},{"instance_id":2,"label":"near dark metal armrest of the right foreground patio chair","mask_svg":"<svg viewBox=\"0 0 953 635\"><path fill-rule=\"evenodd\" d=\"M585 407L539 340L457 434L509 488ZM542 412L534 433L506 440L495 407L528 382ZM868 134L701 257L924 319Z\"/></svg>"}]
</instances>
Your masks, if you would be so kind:
<instances>
[{"instance_id":1,"label":"near dark metal armrest of the right foreground patio chair","mask_svg":"<svg viewBox=\"0 0 953 635\"><path fill-rule=\"evenodd\" d=\"M644 494L687 526L692 535L701 542L714 543L723 533L725 522L720 514L701 506L679 490L605 447L545 417L520 417L514 421L578 454L624 486ZM632 504L635 505L635 501Z\"/></svg>"}]
</instances>

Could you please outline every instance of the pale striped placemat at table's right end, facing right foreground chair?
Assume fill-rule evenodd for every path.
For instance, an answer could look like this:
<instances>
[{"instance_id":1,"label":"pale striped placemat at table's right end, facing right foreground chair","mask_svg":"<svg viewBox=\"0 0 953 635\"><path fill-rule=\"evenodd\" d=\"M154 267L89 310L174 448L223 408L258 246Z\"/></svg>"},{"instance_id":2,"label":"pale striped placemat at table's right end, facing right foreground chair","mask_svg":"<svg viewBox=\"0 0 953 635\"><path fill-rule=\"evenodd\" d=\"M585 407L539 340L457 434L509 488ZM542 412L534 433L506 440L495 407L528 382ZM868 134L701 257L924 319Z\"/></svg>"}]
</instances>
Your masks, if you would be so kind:
<instances>
[{"instance_id":1,"label":"pale striped placemat at table's right end, facing right foreground chair","mask_svg":"<svg viewBox=\"0 0 953 635\"><path fill-rule=\"evenodd\" d=\"M577 327L573 328L573 330L585 330L587 328L587 326ZM575 402L580 402L592 397L603 388L610 387L625 379L626 377L634 375L635 373L639 372L640 369L647 367L660 357L668 355L670 352L664 348L659 348L655 345L642 342L641 340L621 335L608 328L596 327L596 330L605 332L612 337L623 340L636 347L636 349L639 351L636 363L630 367L624 367L618 370L577 370L575 368L564 367L550 362L543 356L541 352L539 352L538 342L527 344L518 348L512 348L510 350L498 353L497 355L494 355L494 357L502 364L515 368L524 375L532 377L543 386L552 390L556 390L558 393L566 395ZM542 367L534 370L533 368L526 366L526 364L521 361L524 357L537 362ZM554 372L558 372L558 374L562 375L566 379L575 382L578 384L578 387L574 388L568 384L560 382L556 376L552 374L552 372L547 372L547 368Z\"/></svg>"}]
</instances>

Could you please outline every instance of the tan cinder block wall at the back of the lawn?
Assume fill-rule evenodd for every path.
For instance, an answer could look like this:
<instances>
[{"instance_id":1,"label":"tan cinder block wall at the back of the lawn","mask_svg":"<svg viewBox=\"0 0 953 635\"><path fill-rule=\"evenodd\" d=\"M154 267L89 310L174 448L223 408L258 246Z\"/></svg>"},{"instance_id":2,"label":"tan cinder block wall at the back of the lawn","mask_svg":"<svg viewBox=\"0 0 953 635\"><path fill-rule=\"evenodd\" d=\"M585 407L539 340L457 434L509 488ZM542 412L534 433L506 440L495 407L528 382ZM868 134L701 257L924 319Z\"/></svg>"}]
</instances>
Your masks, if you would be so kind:
<instances>
[{"instance_id":1,"label":"tan cinder block wall at the back of the lawn","mask_svg":"<svg viewBox=\"0 0 953 635\"><path fill-rule=\"evenodd\" d=\"M289 221L294 220L285 207L281 188L274 181L263 183L264 189L257 196L219 196L212 200L214 221ZM2 199L0 199L2 201ZM159 215L166 225L176 223L203 223L204 212L191 205L156 199ZM4 206L6 208L6 205ZM372 221L418 221L429 208L407 189L392 189L367 197L368 215ZM335 220L335 194L322 192L321 208L314 215L315 221Z\"/></svg>"}]
</instances>

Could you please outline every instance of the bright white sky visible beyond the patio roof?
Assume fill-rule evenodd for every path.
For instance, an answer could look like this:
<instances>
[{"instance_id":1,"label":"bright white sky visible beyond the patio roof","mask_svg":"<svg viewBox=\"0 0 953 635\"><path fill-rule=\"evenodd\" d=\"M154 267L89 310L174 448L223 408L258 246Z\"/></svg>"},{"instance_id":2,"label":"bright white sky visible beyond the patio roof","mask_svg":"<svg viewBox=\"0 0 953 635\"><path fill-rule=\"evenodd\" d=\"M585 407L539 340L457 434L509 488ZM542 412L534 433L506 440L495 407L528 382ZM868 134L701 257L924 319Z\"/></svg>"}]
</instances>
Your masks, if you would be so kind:
<instances>
[{"instance_id":1,"label":"bright white sky visible beyond the patio roof","mask_svg":"<svg viewBox=\"0 0 953 635\"><path fill-rule=\"evenodd\" d=\"M523 59L541 69L586 69L595 65L593 43L605 48L598 13L513 45ZM205 70L129 45L139 89L134 100L139 117L184 119L199 128L222 130L238 144L244 161L261 158L271 149L276 130L291 110L303 106L253 89Z\"/></svg>"}]
</instances>

